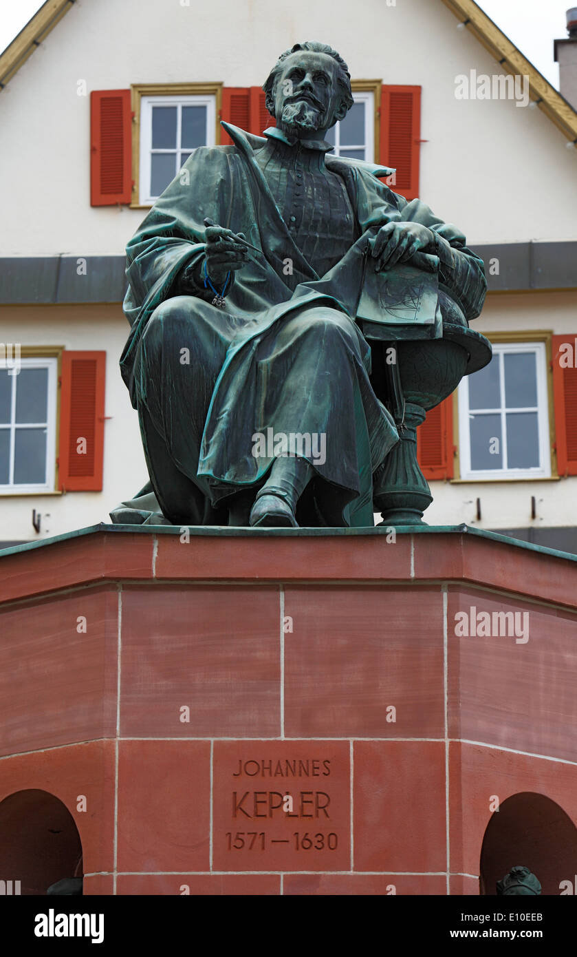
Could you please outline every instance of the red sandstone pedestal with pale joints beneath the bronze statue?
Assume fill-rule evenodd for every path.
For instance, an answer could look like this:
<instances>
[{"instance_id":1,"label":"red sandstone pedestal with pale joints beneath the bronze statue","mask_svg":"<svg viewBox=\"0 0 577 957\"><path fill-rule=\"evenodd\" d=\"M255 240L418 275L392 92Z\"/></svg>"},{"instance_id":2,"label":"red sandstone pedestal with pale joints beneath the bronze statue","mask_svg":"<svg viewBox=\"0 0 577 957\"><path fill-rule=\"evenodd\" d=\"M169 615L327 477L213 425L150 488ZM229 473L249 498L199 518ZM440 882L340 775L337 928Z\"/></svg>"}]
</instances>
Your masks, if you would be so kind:
<instances>
[{"instance_id":1,"label":"red sandstone pedestal with pale joints beneath the bronze statue","mask_svg":"<svg viewBox=\"0 0 577 957\"><path fill-rule=\"evenodd\" d=\"M524 864L567 893L574 558L464 526L187 538L0 555L0 879L493 894Z\"/></svg>"}]
</instances>

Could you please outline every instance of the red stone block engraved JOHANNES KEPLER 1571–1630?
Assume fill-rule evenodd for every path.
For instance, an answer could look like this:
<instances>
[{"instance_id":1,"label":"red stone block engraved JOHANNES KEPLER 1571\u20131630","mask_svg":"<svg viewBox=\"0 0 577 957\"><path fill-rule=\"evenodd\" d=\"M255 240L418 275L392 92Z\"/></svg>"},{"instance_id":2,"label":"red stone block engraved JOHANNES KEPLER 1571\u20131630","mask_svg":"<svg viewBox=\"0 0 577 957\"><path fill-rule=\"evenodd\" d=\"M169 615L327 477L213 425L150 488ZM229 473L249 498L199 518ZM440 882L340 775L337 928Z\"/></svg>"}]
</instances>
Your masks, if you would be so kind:
<instances>
[{"instance_id":1,"label":"red stone block engraved JOHANNES KEPLER 1571\u20131630","mask_svg":"<svg viewBox=\"0 0 577 957\"><path fill-rule=\"evenodd\" d=\"M348 745L215 746L214 829L224 870L350 867Z\"/></svg>"}]
</instances>

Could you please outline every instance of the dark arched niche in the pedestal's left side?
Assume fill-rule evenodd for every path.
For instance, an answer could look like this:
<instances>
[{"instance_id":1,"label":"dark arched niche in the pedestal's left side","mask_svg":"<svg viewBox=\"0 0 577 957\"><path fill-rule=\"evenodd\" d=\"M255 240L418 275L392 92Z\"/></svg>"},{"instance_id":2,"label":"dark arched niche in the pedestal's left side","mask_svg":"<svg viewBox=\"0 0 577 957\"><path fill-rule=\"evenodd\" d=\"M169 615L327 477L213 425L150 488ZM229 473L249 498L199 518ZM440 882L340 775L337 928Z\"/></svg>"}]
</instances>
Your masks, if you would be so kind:
<instances>
[{"instance_id":1,"label":"dark arched niche in the pedestal's left side","mask_svg":"<svg viewBox=\"0 0 577 957\"><path fill-rule=\"evenodd\" d=\"M62 801L31 789L0 802L0 879L19 880L22 895L44 895L57 880L81 877L80 835Z\"/></svg>"}]
</instances>

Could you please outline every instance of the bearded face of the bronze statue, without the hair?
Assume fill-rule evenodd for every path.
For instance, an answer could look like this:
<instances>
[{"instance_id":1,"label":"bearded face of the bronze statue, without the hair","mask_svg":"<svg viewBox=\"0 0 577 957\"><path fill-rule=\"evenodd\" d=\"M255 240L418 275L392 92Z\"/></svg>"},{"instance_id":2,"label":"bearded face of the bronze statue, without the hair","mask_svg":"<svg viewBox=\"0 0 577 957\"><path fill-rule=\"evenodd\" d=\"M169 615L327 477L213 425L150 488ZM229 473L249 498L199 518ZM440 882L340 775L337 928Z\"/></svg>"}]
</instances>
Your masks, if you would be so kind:
<instances>
[{"instance_id":1,"label":"bearded face of the bronze statue, without the hair","mask_svg":"<svg viewBox=\"0 0 577 957\"><path fill-rule=\"evenodd\" d=\"M327 54L291 54L273 91L277 126L292 136L326 131L342 120L347 107L337 82L338 65Z\"/></svg>"}]
</instances>

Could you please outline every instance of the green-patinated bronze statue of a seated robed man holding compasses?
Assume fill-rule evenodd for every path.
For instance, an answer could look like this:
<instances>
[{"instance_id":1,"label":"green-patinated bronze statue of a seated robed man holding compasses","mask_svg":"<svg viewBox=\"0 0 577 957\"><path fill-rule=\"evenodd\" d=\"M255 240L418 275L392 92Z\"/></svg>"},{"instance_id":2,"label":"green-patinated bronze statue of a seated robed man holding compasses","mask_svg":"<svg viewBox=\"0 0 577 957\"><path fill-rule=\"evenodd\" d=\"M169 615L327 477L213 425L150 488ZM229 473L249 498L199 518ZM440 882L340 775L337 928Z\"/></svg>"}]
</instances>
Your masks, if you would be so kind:
<instances>
[{"instance_id":1,"label":"green-patinated bronze statue of a seated robed man holding compasses","mask_svg":"<svg viewBox=\"0 0 577 957\"><path fill-rule=\"evenodd\" d=\"M197 148L128 244L120 367L150 484L113 521L373 525L418 402L490 359L468 330L486 282L464 235L381 182L390 167L331 157L353 105L342 57L296 44L264 90L276 125L223 122L232 145Z\"/></svg>"}]
</instances>

